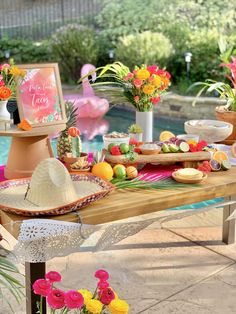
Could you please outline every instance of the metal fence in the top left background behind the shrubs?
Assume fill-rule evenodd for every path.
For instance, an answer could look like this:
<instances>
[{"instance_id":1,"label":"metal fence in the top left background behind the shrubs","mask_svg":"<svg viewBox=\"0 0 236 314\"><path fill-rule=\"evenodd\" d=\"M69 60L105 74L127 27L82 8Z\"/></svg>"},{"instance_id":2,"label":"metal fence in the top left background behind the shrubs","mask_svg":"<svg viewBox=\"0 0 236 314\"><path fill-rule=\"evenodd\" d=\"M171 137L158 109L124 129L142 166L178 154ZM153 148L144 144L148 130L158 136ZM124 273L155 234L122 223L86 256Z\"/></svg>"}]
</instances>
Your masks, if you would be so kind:
<instances>
[{"instance_id":1,"label":"metal fence in the top left background behind the shrubs","mask_svg":"<svg viewBox=\"0 0 236 314\"><path fill-rule=\"evenodd\" d=\"M0 0L0 38L47 38L69 23L95 24L102 0Z\"/></svg>"}]
</instances>

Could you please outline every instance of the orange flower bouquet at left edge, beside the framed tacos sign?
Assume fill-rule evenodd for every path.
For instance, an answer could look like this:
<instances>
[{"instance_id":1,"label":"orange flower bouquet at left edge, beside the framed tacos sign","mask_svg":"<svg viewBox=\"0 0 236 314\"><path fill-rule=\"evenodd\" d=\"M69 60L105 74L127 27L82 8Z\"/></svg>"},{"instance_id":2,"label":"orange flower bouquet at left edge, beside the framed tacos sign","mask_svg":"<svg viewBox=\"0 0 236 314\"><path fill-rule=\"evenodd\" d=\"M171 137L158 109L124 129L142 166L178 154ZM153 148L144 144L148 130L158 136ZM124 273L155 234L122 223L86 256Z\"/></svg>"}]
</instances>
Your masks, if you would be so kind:
<instances>
[{"instance_id":1,"label":"orange flower bouquet at left edge, beside the framed tacos sign","mask_svg":"<svg viewBox=\"0 0 236 314\"><path fill-rule=\"evenodd\" d=\"M25 76L13 62L0 64L0 101L15 97L17 80Z\"/></svg>"}]
</instances>

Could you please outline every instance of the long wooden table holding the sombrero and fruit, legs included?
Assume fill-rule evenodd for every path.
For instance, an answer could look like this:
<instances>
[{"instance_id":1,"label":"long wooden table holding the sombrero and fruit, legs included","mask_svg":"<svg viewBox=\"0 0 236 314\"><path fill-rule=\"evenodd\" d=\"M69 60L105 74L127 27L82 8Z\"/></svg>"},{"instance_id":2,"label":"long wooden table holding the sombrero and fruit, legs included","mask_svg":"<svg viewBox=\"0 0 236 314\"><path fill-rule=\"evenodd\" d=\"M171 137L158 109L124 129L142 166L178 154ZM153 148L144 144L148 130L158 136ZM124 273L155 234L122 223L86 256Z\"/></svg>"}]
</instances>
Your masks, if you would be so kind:
<instances>
[{"instance_id":1,"label":"long wooden table holding the sombrero and fruit, legs included","mask_svg":"<svg viewBox=\"0 0 236 314\"><path fill-rule=\"evenodd\" d=\"M80 216L86 224L101 224L217 197L236 200L236 168L226 172L210 173L206 182L200 187L155 191L114 191L108 197L82 209ZM235 221L225 221L234 209L236 209L235 204L224 207L222 241L227 244L235 240ZM50 218L70 222L78 221L74 213ZM3 227L15 237L19 232L20 222L11 223L24 219L21 216L1 213ZM32 293L31 285L34 280L43 277L44 273L45 263L26 263L27 314L36 313L37 297Z\"/></svg>"}]
</instances>

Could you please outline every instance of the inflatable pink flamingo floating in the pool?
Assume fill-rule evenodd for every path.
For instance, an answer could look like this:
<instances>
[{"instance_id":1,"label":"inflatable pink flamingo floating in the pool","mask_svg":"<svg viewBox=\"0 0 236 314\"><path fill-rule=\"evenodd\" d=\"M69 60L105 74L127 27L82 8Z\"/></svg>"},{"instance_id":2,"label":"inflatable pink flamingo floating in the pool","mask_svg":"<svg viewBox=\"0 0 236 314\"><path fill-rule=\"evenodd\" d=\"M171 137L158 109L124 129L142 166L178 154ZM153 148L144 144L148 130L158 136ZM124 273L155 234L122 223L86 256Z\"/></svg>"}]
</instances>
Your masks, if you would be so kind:
<instances>
[{"instance_id":1,"label":"inflatable pink flamingo floating in the pool","mask_svg":"<svg viewBox=\"0 0 236 314\"><path fill-rule=\"evenodd\" d=\"M86 76L96 68L92 64L85 64L81 69L81 77ZM95 81L96 73L92 75ZM82 94L64 95L65 100L69 100L78 108L78 118L98 118L103 116L109 110L109 103L105 98L95 95L88 77L82 81Z\"/></svg>"}]
</instances>

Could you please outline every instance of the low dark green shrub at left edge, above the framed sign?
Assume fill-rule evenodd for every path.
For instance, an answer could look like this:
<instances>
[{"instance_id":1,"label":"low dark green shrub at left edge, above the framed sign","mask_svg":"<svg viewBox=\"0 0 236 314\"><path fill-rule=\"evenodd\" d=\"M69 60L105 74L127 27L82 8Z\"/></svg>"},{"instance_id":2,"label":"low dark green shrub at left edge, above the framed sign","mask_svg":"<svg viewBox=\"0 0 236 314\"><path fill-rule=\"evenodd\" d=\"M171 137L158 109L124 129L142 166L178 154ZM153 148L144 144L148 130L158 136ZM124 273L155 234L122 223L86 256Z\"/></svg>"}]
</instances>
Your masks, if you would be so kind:
<instances>
[{"instance_id":1,"label":"low dark green shrub at left edge, above the framed sign","mask_svg":"<svg viewBox=\"0 0 236 314\"><path fill-rule=\"evenodd\" d=\"M47 41L36 44L30 40L4 37L0 39L0 62L6 61L6 51L16 64L47 62L51 58Z\"/></svg>"}]
</instances>

